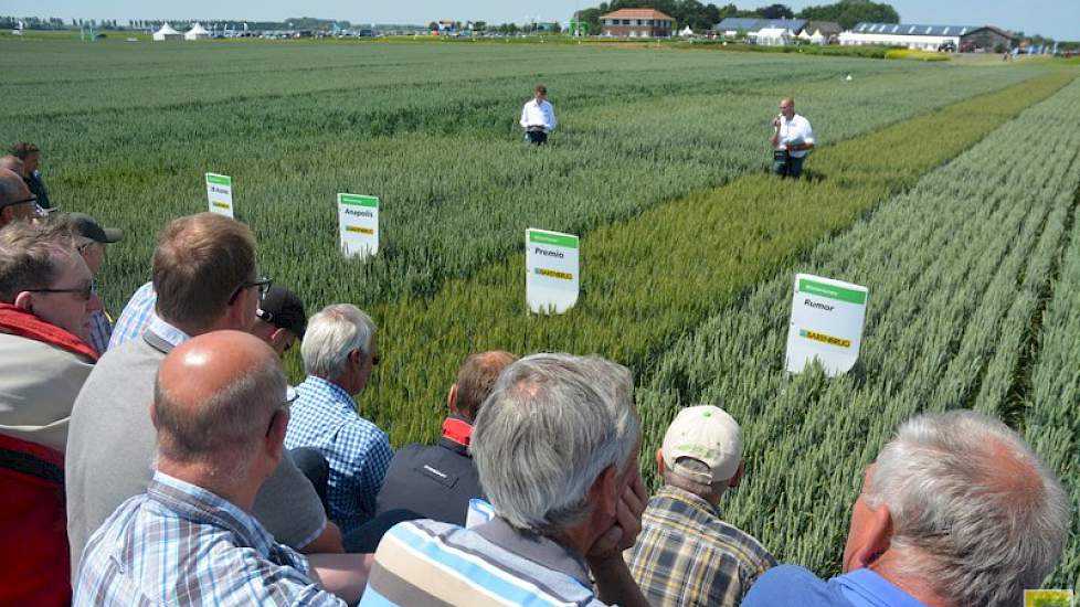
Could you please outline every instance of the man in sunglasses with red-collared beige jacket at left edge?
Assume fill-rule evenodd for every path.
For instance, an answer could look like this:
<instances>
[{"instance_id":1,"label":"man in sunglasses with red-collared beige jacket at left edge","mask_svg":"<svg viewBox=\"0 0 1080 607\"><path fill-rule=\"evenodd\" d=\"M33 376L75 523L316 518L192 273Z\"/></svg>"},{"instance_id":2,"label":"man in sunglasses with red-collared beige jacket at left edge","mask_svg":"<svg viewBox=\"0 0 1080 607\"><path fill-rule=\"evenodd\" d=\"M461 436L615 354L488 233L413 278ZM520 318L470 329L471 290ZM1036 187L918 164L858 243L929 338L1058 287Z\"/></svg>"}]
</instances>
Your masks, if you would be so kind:
<instances>
[{"instance_id":1,"label":"man in sunglasses with red-collared beige jacket at left edge","mask_svg":"<svg viewBox=\"0 0 1080 607\"><path fill-rule=\"evenodd\" d=\"M71 225L0 230L0 605L71 600L64 450L97 353L86 344L89 268Z\"/></svg>"}]
</instances>

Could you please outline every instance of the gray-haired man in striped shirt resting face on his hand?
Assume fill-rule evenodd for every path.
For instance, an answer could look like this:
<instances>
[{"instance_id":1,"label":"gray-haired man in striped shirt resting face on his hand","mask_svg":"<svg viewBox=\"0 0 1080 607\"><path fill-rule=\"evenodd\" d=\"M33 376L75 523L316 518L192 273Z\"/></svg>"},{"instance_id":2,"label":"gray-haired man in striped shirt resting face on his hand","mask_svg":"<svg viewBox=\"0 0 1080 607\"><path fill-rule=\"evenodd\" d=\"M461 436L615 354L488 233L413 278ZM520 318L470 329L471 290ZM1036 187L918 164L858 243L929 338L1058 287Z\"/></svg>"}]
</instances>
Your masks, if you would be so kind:
<instances>
[{"instance_id":1,"label":"gray-haired man in striped shirt resting face on his hand","mask_svg":"<svg viewBox=\"0 0 1080 607\"><path fill-rule=\"evenodd\" d=\"M647 605L621 556L644 510L633 388L626 368L596 356L508 366L470 445L497 517L394 526L361 605Z\"/></svg>"}]
</instances>

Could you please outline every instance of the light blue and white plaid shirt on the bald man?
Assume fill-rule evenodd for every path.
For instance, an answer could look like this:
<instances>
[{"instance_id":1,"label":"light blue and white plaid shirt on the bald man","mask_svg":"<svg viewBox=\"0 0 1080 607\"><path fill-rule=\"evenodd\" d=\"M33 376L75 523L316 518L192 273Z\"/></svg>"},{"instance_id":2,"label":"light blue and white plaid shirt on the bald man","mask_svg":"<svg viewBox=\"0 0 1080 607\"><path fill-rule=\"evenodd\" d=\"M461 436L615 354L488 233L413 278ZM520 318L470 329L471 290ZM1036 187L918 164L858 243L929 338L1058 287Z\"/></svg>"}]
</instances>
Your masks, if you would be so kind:
<instances>
[{"instance_id":1,"label":"light blue and white plaid shirt on the bald man","mask_svg":"<svg viewBox=\"0 0 1080 607\"><path fill-rule=\"evenodd\" d=\"M74 605L345 605L309 572L251 514L157 472L91 536Z\"/></svg>"}]
</instances>

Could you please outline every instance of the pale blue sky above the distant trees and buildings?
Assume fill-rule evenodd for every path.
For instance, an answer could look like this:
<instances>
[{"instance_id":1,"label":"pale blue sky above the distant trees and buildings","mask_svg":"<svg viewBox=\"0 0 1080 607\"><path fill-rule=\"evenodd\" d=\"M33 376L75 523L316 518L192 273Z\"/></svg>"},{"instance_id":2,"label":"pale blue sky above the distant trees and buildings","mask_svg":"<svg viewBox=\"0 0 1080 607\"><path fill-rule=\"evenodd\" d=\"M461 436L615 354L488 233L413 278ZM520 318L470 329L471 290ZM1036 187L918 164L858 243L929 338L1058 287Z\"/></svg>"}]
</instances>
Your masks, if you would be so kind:
<instances>
[{"instance_id":1,"label":"pale blue sky above the distant trees and buildings","mask_svg":"<svg viewBox=\"0 0 1080 607\"><path fill-rule=\"evenodd\" d=\"M701 0L708 3L710 0ZM730 0L711 0L723 6ZM737 0L753 9L783 0ZM248 19L280 21L289 17L341 19L353 23L417 23L438 19L525 23L567 21L575 9L600 0L0 0L0 14L60 17L64 20ZM829 0L784 2L795 9ZM893 0L904 23L997 25L1056 40L1080 40L1080 0ZM300 14L303 13L303 14Z\"/></svg>"}]
</instances>

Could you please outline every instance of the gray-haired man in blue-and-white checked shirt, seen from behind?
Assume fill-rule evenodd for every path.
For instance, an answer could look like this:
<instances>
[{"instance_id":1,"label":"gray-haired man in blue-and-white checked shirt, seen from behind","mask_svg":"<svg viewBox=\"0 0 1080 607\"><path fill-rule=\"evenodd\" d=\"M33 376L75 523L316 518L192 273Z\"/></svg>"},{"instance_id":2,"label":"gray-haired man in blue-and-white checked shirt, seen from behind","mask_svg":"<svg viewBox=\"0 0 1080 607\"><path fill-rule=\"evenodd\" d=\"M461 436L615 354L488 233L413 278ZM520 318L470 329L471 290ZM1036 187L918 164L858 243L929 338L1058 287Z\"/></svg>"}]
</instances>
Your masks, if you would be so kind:
<instances>
[{"instance_id":1,"label":"gray-haired man in blue-and-white checked shirt, seen from behind","mask_svg":"<svg viewBox=\"0 0 1080 607\"><path fill-rule=\"evenodd\" d=\"M327 513L348 533L374 514L393 457L387 434L360 417L353 401L379 364L375 323L356 306L327 306L311 317L300 354L308 375L296 387L285 446L326 457Z\"/></svg>"}]
</instances>

